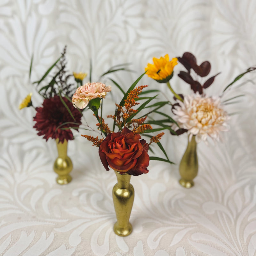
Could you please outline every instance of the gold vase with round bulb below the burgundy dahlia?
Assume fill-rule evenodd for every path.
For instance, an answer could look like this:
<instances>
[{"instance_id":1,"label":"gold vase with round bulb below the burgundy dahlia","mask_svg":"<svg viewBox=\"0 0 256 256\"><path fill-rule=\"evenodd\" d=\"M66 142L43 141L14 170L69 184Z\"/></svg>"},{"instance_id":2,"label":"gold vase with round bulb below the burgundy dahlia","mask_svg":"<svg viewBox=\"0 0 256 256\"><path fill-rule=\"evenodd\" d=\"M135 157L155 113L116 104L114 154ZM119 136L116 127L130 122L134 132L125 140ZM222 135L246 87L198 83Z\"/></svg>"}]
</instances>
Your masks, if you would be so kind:
<instances>
[{"instance_id":1,"label":"gold vase with round bulb below the burgundy dahlia","mask_svg":"<svg viewBox=\"0 0 256 256\"><path fill-rule=\"evenodd\" d=\"M59 176L56 181L60 185L68 184L72 177L68 174L73 169L73 164L71 159L67 156L68 150L68 141L64 140L63 143L59 142L59 139L56 140L58 157L53 164L53 170Z\"/></svg>"}]
</instances>

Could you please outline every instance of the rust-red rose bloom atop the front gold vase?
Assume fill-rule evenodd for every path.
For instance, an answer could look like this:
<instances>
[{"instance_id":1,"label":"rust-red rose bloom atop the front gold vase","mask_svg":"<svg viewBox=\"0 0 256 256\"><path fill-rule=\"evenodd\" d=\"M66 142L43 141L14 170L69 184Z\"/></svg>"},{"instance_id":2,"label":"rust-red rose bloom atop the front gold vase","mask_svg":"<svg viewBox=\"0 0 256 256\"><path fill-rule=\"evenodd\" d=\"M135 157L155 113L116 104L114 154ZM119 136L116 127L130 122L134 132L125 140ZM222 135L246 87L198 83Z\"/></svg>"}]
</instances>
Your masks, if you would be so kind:
<instances>
[{"instance_id":1,"label":"rust-red rose bloom atop the front gold vase","mask_svg":"<svg viewBox=\"0 0 256 256\"><path fill-rule=\"evenodd\" d=\"M122 173L138 176L148 173L148 144L140 140L139 134L134 134L127 128L122 132L108 134L100 144L100 160L107 171L109 167Z\"/></svg>"}]
</instances>

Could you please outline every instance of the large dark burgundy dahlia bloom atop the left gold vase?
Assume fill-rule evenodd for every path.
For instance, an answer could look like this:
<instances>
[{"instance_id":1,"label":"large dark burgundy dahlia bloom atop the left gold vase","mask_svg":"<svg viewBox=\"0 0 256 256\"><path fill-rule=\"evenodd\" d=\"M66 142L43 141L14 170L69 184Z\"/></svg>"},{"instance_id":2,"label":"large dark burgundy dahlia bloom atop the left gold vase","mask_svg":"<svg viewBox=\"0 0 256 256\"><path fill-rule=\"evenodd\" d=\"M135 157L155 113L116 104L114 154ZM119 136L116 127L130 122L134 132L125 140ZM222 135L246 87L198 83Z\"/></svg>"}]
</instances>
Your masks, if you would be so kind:
<instances>
[{"instance_id":1,"label":"large dark burgundy dahlia bloom atop the left gold vase","mask_svg":"<svg viewBox=\"0 0 256 256\"><path fill-rule=\"evenodd\" d=\"M49 138L55 140L59 139L61 143L63 143L64 140L74 140L73 133L70 129L63 130L61 128L78 127L81 124L82 114L79 110L74 108L72 102L68 99L62 99L67 104L75 120L69 114L67 108L63 105L58 95L45 99L43 107L36 108L37 113L36 116L34 116L36 124L34 125L34 128L36 128L36 131L39 131L37 135L44 135L43 138L46 139L46 141ZM66 122L72 123L64 124ZM59 128L56 130L57 127Z\"/></svg>"}]
</instances>

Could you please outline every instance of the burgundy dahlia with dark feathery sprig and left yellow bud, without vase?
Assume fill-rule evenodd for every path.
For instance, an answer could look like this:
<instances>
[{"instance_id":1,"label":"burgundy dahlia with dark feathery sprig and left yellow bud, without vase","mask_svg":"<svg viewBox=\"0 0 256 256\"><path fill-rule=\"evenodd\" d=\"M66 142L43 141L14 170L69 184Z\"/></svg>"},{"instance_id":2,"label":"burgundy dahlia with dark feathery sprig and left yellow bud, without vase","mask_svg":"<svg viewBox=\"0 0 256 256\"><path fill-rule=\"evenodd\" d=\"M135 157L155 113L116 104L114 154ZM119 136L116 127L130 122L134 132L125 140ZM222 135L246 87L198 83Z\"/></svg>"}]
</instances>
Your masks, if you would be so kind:
<instances>
[{"instance_id":1,"label":"burgundy dahlia with dark feathery sprig and left yellow bud, without vase","mask_svg":"<svg viewBox=\"0 0 256 256\"><path fill-rule=\"evenodd\" d=\"M33 127L38 131L37 135L43 135L46 141L52 138L61 143L64 140L74 140L71 129L78 129L82 117L81 111L74 108L71 103L71 96L76 89L76 85L69 82L71 75L68 74L66 68L65 55L66 47L63 49L60 58L46 71L44 76L33 83L36 84L38 93L44 98L42 107L33 106L32 93L29 93L19 106L20 109L30 106L35 108L36 115L33 120L36 123ZM56 71L50 82L41 86L41 83L54 67Z\"/></svg>"}]
</instances>

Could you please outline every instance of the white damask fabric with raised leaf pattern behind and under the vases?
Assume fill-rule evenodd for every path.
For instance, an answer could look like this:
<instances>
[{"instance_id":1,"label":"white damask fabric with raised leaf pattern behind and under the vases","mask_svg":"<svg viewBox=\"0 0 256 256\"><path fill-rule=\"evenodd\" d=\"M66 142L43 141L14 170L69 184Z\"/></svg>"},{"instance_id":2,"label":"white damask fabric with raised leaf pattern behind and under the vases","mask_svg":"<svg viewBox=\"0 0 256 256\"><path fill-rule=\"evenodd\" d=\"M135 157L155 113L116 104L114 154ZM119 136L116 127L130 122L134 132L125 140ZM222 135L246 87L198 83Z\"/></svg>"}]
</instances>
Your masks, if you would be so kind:
<instances>
[{"instance_id":1,"label":"white damask fabric with raised leaf pattern behind and under the vases","mask_svg":"<svg viewBox=\"0 0 256 256\"><path fill-rule=\"evenodd\" d=\"M35 92L30 81L44 74L65 45L69 70L88 73L92 60L93 81L110 66L131 63L135 72L111 76L124 90L153 57L189 51L198 63L211 62L211 74L221 71L208 91L220 95L236 75L256 64L255 23L254 0L1 0L0 254L255 255L255 73L228 92L227 97L244 96L226 105L229 114L236 114L222 141L198 144L195 187L178 183L187 136L165 132L162 144L177 164L151 161L148 174L132 177L133 232L124 238L112 230L116 177L104 170L97 148L80 136L83 131L75 132L68 145L73 180L56 184L55 142L36 135L33 108L18 108ZM108 113L121 92L109 79L101 82L112 85L105 101ZM160 99L172 97L164 84L146 76L140 84L160 89ZM172 86L190 91L176 75ZM36 106L42 103L36 93L32 97Z\"/></svg>"}]
</instances>

